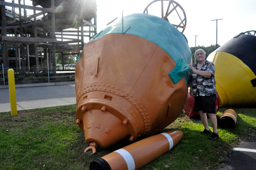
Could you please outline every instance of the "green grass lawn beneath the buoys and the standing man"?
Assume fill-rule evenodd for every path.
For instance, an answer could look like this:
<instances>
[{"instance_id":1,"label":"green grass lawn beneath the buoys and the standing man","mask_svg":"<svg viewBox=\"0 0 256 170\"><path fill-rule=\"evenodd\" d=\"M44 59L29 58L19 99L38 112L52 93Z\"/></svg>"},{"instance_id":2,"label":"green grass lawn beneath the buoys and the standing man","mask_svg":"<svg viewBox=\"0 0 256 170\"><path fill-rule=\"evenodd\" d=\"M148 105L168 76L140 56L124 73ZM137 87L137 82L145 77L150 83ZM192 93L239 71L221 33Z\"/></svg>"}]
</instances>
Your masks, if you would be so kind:
<instances>
[{"instance_id":1,"label":"green grass lawn beneath the buoys and the standing man","mask_svg":"<svg viewBox=\"0 0 256 170\"><path fill-rule=\"evenodd\" d=\"M180 114L163 132L181 130L180 142L168 153L158 157L142 170L216 170L236 147L256 134L256 108L220 108L219 119L227 109L238 114L235 129L218 129L220 138L209 141L199 119ZM95 156L84 154L87 147L84 134L76 124L76 106L0 113L0 169L1 170L88 170ZM210 122L209 122L210 124ZM212 128L211 128L212 130Z\"/></svg>"}]
</instances>

